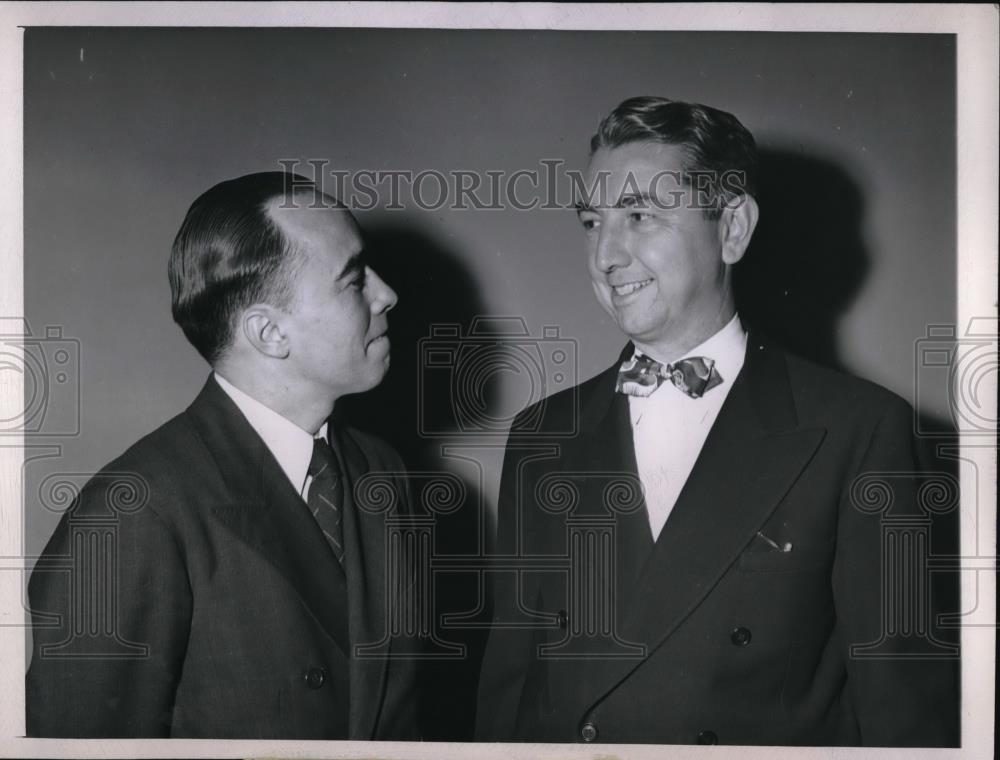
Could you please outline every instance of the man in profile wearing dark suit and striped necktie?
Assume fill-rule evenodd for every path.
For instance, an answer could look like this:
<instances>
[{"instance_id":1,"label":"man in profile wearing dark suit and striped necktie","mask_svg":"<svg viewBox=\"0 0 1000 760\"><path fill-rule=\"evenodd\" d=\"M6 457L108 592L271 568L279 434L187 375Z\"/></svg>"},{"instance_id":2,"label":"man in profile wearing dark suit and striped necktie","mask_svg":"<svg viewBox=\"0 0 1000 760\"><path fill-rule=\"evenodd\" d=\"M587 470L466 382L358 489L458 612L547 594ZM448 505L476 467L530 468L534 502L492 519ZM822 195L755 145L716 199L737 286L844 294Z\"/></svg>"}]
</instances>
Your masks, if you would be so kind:
<instances>
[{"instance_id":1,"label":"man in profile wearing dark suit and striped necktie","mask_svg":"<svg viewBox=\"0 0 1000 760\"><path fill-rule=\"evenodd\" d=\"M387 562L385 512L356 488L392 473L405 514L402 464L330 419L385 375L396 294L350 213L278 172L198 198L169 275L213 373L40 558L28 734L418 738L408 645L386 638L412 567Z\"/></svg>"}]
</instances>

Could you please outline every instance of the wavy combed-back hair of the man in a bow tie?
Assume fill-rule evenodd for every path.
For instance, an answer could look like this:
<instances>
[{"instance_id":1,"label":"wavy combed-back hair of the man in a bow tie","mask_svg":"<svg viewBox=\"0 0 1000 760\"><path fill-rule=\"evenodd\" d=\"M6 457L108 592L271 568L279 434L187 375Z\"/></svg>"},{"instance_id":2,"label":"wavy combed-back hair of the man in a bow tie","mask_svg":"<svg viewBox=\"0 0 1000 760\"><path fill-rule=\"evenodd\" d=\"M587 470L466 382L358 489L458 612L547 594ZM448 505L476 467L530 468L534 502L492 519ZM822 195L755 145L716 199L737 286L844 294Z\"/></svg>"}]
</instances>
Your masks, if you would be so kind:
<instances>
[{"instance_id":1,"label":"wavy combed-back hair of the man in a bow tie","mask_svg":"<svg viewBox=\"0 0 1000 760\"><path fill-rule=\"evenodd\" d=\"M699 205L710 218L740 196L757 194L757 143L730 113L669 98L629 98L601 121L590 152L641 142L685 151L683 180L697 185Z\"/></svg>"}]
</instances>

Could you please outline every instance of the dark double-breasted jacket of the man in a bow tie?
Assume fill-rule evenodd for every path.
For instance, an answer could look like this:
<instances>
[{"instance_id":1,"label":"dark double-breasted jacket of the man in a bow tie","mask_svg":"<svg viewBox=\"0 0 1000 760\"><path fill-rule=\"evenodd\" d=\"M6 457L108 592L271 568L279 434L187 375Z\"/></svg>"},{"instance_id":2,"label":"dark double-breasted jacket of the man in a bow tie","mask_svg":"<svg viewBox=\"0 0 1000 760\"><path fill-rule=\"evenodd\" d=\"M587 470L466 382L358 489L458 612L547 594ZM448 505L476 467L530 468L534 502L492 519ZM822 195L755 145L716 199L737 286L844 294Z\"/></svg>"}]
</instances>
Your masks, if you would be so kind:
<instances>
[{"instance_id":1,"label":"dark double-breasted jacket of the man in a bow tie","mask_svg":"<svg viewBox=\"0 0 1000 760\"><path fill-rule=\"evenodd\" d=\"M850 654L852 645L882 636L883 523L915 516L919 532L925 517L916 506L912 412L882 388L786 355L753 334L648 560L614 595L619 642L597 641L604 648L590 659L551 656L565 649L540 655L539 647L565 642L574 629L584 644L588 630L600 632L599 623L573 619L583 586L571 597L568 574L554 568L572 554L570 519L608 513L616 498L609 479L638 481L628 400L613 392L616 370L529 408L512 428L497 552L520 556L522 569L508 561L494 572L477 737L957 743L953 648L926 636L889 636L879 657ZM516 432L539 419L537 434ZM578 433L553 434L572 429ZM872 510L855 506L852 484L865 473L883 474L889 512L874 509L870 489L861 501ZM776 549L758 531L791 549ZM590 571L602 569L591 563ZM902 576L915 580L909 569ZM930 613L917 614L925 621ZM636 655L628 645L645 650ZM921 654L943 659L906 659Z\"/></svg>"}]
</instances>

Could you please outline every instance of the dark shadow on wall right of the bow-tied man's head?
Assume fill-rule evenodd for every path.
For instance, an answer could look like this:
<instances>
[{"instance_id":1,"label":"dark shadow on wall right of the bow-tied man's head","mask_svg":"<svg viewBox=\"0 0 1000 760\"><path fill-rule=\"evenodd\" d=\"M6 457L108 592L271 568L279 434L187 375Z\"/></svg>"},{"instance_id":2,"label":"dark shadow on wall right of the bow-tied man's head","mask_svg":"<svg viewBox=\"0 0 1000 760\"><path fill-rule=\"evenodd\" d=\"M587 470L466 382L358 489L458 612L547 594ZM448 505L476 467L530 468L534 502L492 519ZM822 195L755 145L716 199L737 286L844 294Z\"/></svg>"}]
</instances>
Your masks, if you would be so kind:
<instances>
[{"instance_id":1,"label":"dark shadow on wall right of the bow-tied man's head","mask_svg":"<svg viewBox=\"0 0 1000 760\"><path fill-rule=\"evenodd\" d=\"M839 166L784 150L761 150L760 179L737 308L792 353L841 369L837 323L869 269L861 189Z\"/></svg>"}]
</instances>

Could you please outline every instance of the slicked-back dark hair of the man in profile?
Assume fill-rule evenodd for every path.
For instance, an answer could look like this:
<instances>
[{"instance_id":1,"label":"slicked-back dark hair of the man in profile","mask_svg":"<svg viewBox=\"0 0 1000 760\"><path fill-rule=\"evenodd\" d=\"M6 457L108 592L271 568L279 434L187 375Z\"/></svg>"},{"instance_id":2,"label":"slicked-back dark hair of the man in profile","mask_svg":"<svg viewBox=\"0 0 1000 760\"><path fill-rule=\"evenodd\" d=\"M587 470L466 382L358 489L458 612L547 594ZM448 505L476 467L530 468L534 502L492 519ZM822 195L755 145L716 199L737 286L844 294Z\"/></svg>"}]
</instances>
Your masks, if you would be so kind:
<instances>
[{"instance_id":1,"label":"slicked-back dark hair of the man in profile","mask_svg":"<svg viewBox=\"0 0 1000 760\"><path fill-rule=\"evenodd\" d=\"M220 182L191 204L167 268L171 312L209 364L232 344L243 309L291 303L299 254L269 216L268 204L275 198L308 204L316 197L319 190L304 177L261 172Z\"/></svg>"}]
</instances>

